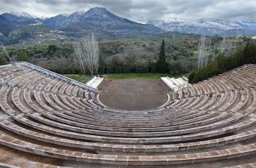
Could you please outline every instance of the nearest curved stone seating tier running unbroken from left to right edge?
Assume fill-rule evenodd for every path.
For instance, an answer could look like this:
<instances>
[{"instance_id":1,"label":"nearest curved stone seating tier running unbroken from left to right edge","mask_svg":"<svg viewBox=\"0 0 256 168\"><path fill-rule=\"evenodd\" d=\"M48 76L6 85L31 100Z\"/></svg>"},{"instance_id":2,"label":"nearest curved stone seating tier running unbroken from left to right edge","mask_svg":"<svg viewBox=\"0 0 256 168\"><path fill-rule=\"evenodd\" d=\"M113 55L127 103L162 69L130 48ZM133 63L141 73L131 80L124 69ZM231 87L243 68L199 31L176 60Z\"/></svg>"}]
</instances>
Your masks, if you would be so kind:
<instances>
[{"instance_id":1,"label":"nearest curved stone seating tier running unbroken from left to right edge","mask_svg":"<svg viewBox=\"0 0 256 168\"><path fill-rule=\"evenodd\" d=\"M116 165L169 165L169 164L193 164L223 159L235 159L242 156L249 156L256 153L256 144L240 145L225 150L212 152L200 152L189 154L162 155L162 156L129 156L129 155L105 155L84 153L80 151L61 150L48 146L36 145L9 135L0 135L0 144L20 151L34 153L41 156L48 156L70 161L81 161L94 164L116 164Z\"/></svg>"}]
</instances>

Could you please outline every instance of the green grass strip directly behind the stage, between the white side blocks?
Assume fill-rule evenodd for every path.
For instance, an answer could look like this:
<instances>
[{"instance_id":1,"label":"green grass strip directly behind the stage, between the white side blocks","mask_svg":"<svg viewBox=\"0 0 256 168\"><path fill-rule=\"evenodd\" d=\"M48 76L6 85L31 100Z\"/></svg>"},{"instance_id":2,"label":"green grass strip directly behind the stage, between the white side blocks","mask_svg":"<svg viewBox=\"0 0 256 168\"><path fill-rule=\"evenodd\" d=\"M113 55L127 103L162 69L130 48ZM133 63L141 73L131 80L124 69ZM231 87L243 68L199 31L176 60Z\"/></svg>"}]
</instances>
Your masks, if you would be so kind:
<instances>
[{"instance_id":1,"label":"green grass strip directly behind the stage, between the white side blocks","mask_svg":"<svg viewBox=\"0 0 256 168\"><path fill-rule=\"evenodd\" d=\"M181 76L189 76L189 73L170 75L167 73L113 73L105 74L108 79L160 79L163 76L178 78Z\"/></svg>"}]
</instances>

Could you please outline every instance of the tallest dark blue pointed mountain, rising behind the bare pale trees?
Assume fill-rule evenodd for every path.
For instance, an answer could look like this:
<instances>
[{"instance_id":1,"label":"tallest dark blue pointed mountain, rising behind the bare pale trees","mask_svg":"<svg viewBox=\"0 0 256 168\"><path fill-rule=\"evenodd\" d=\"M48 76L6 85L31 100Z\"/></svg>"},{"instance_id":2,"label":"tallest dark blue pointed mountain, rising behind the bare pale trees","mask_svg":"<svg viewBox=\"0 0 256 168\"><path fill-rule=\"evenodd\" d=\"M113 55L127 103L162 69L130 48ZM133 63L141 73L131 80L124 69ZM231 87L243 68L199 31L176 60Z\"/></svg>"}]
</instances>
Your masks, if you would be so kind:
<instances>
[{"instance_id":1,"label":"tallest dark blue pointed mountain, rising behind the bare pale trees","mask_svg":"<svg viewBox=\"0 0 256 168\"><path fill-rule=\"evenodd\" d=\"M159 33L161 29L154 25L135 23L123 17L118 17L107 9L94 7L87 12L74 12L70 15L57 15L43 22L48 28L66 31L73 36L94 32L97 36L127 37L140 34Z\"/></svg>"}]
</instances>

